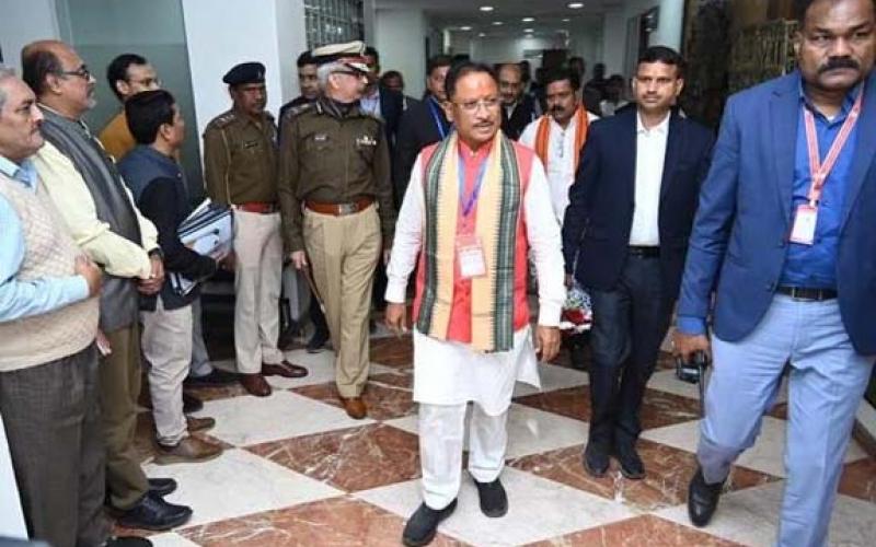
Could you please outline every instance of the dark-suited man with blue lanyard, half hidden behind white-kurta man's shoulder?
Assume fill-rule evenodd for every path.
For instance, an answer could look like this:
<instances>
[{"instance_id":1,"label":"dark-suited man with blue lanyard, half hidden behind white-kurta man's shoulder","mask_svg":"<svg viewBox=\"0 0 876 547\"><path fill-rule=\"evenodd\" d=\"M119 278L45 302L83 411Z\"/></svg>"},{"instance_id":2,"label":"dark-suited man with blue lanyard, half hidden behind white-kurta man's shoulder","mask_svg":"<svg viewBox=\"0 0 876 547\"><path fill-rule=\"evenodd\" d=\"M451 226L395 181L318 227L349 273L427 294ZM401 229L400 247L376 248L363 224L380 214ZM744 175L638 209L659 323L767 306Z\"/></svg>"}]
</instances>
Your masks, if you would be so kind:
<instances>
[{"instance_id":1,"label":"dark-suited man with blue lanyard, half hidden behind white-kurta man's shoulder","mask_svg":"<svg viewBox=\"0 0 876 547\"><path fill-rule=\"evenodd\" d=\"M426 66L426 97L408 106L399 124L395 139L395 160L392 163L392 182L395 186L396 207L400 207L411 179L411 170L424 147L443 140L450 135L451 123L445 113L447 94L445 78L452 59L438 55Z\"/></svg>"}]
</instances>

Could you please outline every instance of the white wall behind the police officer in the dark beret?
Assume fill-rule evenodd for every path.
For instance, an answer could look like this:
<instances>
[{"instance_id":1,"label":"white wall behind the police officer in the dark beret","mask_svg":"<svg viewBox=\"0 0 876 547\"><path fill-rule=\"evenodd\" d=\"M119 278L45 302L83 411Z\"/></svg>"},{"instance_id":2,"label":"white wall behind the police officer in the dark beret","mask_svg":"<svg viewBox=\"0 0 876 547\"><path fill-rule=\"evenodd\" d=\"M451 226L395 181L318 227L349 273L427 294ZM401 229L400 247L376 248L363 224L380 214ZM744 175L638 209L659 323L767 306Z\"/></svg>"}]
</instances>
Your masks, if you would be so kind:
<instances>
[{"instance_id":1,"label":"white wall behind the police officer in the dark beret","mask_svg":"<svg viewBox=\"0 0 876 547\"><path fill-rule=\"evenodd\" d=\"M265 66L267 109L276 114L296 90L295 59L304 46L302 0L183 0L198 135L231 106L222 75L234 65ZM291 5L291 4L298 4ZM296 13L298 15L296 15Z\"/></svg>"}]
</instances>

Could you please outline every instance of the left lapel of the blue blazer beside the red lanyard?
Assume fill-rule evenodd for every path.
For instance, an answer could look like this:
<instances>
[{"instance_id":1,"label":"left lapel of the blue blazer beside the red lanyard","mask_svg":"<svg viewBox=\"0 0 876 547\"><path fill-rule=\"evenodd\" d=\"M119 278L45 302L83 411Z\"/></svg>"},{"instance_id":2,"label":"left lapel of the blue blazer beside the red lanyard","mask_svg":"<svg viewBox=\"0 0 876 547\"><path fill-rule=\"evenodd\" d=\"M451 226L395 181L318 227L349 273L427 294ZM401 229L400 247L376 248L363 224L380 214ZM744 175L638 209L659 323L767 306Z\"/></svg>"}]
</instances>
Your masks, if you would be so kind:
<instances>
[{"instance_id":1,"label":"left lapel of the blue blazer beside the red lanyard","mask_svg":"<svg viewBox=\"0 0 876 547\"><path fill-rule=\"evenodd\" d=\"M770 127L774 147L772 155L775 162L773 183L779 202L782 205L782 213L785 216L785 221L789 222L794 161L797 153L797 120L800 114L799 78L788 78L785 82L787 85L775 90L771 97Z\"/></svg>"}]
</instances>

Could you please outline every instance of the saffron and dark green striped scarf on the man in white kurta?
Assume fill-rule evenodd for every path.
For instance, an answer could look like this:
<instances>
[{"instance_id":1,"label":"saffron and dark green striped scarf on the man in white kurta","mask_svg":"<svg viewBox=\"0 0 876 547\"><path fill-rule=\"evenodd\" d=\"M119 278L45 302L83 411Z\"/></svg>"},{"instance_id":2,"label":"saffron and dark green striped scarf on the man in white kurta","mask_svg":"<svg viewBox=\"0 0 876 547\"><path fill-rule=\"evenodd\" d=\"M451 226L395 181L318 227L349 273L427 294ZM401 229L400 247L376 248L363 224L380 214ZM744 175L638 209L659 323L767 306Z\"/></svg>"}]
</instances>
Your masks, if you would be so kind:
<instances>
[{"instance_id":1,"label":"saffron and dark green striped scarf on the man in white kurta","mask_svg":"<svg viewBox=\"0 0 876 547\"><path fill-rule=\"evenodd\" d=\"M514 144L496 133L477 198L474 233L481 238L486 275L472 278L471 346L475 351L514 347L514 271L521 186ZM460 214L459 136L445 139L426 166L424 292L417 330L447 339L453 305L457 219Z\"/></svg>"}]
</instances>

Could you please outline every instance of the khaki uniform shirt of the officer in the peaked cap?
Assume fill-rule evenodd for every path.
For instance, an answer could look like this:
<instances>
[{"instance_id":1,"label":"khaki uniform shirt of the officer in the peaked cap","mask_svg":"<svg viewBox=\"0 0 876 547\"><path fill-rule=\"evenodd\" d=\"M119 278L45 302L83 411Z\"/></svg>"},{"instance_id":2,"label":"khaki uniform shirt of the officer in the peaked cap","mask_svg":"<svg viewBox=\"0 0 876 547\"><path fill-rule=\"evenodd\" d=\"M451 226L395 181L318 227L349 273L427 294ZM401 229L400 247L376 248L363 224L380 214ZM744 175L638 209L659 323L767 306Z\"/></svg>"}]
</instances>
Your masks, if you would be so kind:
<instances>
[{"instance_id":1,"label":"khaki uniform shirt of the officer in the peaked cap","mask_svg":"<svg viewBox=\"0 0 876 547\"><path fill-rule=\"evenodd\" d=\"M281 121L279 196L287 251L304 248L303 201L350 203L366 197L378 201L389 248L395 210L383 123L358 105L343 115L325 100L289 110Z\"/></svg>"}]
</instances>

